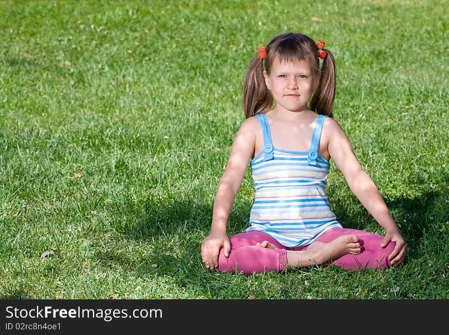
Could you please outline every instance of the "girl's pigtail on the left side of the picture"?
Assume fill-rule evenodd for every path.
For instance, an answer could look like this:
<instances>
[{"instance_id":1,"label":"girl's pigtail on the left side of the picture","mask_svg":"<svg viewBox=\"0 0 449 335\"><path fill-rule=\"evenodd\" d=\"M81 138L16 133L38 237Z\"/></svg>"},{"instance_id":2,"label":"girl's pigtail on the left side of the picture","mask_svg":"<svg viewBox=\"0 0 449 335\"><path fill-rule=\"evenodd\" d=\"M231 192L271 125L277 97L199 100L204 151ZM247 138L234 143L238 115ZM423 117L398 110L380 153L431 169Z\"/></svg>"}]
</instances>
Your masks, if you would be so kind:
<instances>
[{"instance_id":1,"label":"girl's pigtail on the left side of the picture","mask_svg":"<svg viewBox=\"0 0 449 335\"><path fill-rule=\"evenodd\" d=\"M245 118L264 113L273 105L273 96L265 84L262 59L256 56L246 70L243 82Z\"/></svg>"}]
</instances>

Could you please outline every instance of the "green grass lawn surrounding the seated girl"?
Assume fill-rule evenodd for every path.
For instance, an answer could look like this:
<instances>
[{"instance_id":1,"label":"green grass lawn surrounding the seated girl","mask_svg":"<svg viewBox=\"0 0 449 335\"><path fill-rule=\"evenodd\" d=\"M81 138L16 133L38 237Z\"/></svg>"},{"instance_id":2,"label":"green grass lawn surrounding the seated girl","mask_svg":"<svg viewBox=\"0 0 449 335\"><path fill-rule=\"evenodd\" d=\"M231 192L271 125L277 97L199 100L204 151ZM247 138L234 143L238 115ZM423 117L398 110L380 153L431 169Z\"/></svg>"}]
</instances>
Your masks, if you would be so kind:
<instances>
[{"instance_id":1,"label":"green grass lawn surrounding the seated girl","mask_svg":"<svg viewBox=\"0 0 449 335\"><path fill-rule=\"evenodd\" d=\"M0 2L0 298L449 298L449 4L277 3ZM400 267L202 266L244 71L286 31L336 58L335 119L409 245ZM383 233L333 163L327 191L344 226ZM248 169L229 235L253 195Z\"/></svg>"}]
</instances>

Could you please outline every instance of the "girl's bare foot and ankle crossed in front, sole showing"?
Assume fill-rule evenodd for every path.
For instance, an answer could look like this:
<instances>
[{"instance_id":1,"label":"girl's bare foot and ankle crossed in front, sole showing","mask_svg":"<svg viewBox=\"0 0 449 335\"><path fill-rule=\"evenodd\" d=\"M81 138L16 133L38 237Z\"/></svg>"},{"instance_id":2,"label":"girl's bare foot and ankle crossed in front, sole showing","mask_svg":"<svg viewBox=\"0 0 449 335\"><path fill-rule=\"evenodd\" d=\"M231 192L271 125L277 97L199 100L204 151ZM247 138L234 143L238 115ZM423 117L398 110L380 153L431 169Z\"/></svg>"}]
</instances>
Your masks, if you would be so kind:
<instances>
[{"instance_id":1,"label":"girl's bare foot and ankle crossed in front, sole showing","mask_svg":"<svg viewBox=\"0 0 449 335\"><path fill-rule=\"evenodd\" d=\"M342 235L329 243L313 242L302 251L287 251L288 264L293 267L323 264L345 254L359 254L360 243L355 234Z\"/></svg>"}]
</instances>

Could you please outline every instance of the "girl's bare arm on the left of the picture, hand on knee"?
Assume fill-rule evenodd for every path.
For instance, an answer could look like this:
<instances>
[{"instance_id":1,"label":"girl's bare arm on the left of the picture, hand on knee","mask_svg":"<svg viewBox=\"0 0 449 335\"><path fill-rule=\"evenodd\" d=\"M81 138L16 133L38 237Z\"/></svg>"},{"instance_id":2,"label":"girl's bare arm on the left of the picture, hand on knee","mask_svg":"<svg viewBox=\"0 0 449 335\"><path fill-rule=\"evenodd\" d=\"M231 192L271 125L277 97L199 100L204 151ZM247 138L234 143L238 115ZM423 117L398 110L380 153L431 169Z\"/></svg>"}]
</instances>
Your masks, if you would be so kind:
<instances>
[{"instance_id":1,"label":"girl's bare arm on the left of the picture, hand on knee","mask_svg":"<svg viewBox=\"0 0 449 335\"><path fill-rule=\"evenodd\" d=\"M227 257L231 251L226 228L235 196L255 150L256 122L259 123L257 118L248 118L240 126L231 147L228 163L218 183L211 233L201 245L201 255L207 268L218 266L220 247L224 248L224 255Z\"/></svg>"}]
</instances>

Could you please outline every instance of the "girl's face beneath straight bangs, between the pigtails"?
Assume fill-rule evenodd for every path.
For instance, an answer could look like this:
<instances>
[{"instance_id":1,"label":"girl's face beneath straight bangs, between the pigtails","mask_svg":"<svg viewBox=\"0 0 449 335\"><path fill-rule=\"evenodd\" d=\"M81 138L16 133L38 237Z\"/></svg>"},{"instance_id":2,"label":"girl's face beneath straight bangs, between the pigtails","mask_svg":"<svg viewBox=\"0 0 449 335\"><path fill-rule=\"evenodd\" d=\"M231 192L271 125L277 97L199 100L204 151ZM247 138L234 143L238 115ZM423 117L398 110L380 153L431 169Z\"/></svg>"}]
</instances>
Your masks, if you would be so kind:
<instances>
[{"instance_id":1,"label":"girl's face beneath straight bangs, between the pigtails","mask_svg":"<svg viewBox=\"0 0 449 335\"><path fill-rule=\"evenodd\" d=\"M283 62L271 65L270 74L264 71L265 83L276 101L276 108L291 112L308 110L307 103L316 90L319 78L306 61Z\"/></svg>"}]
</instances>

